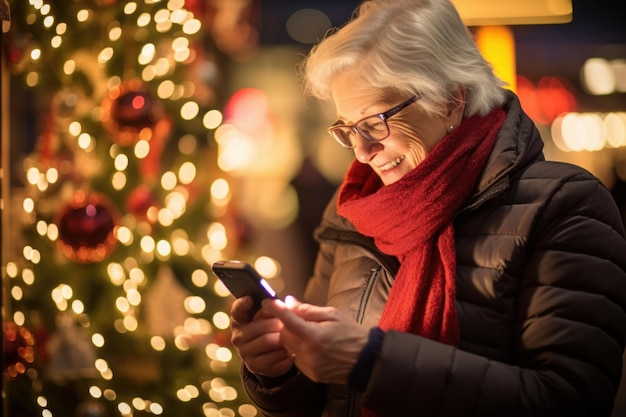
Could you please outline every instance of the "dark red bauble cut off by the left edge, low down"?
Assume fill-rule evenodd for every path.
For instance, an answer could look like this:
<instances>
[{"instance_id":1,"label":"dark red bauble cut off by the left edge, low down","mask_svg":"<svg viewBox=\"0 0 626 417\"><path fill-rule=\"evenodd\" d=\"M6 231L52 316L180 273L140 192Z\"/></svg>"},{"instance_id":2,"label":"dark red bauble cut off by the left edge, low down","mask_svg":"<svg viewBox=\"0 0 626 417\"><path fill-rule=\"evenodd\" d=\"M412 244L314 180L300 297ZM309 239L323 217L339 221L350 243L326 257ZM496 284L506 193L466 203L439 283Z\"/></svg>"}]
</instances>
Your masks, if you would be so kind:
<instances>
[{"instance_id":1,"label":"dark red bauble cut off by the left edge, low down","mask_svg":"<svg viewBox=\"0 0 626 417\"><path fill-rule=\"evenodd\" d=\"M35 361L35 338L26 327L9 321L2 324L2 331L5 371L9 378L15 378Z\"/></svg>"}]
</instances>

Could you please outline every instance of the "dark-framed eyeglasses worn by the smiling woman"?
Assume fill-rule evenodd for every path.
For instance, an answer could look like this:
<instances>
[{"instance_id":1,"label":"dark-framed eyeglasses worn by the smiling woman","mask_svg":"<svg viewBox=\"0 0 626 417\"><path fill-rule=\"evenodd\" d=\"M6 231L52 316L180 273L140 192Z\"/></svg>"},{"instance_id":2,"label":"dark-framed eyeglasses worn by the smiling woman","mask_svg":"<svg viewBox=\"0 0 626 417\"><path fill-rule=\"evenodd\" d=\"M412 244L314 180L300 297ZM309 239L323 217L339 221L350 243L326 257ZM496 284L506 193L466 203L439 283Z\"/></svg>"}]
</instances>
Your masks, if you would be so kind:
<instances>
[{"instance_id":1,"label":"dark-framed eyeglasses worn by the smiling woman","mask_svg":"<svg viewBox=\"0 0 626 417\"><path fill-rule=\"evenodd\" d=\"M337 143L348 149L356 148L356 143L353 142L352 138L357 133L370 142L380 142L390 134L387 119L415 103L419 98L420 96L413 96L384 113L367 116L353 125L342 125L337 122L328 128L328 133L335 138Z\"/></svg>"}]
</instances>

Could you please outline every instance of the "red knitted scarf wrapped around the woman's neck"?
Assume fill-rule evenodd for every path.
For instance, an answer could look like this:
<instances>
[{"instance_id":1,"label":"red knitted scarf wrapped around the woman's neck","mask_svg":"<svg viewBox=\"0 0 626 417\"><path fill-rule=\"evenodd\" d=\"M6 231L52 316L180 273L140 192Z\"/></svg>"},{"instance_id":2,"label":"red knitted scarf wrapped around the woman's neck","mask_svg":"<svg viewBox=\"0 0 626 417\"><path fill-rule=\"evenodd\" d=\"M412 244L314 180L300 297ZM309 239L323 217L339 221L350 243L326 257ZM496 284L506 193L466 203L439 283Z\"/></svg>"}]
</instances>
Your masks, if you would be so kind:
<instances>
[{"instance_id":1,"label":"red knitted scarf wrapped around the woman's neck","mask_svg":"<svg viewBox=\"0 0 626 417\"><path fill-rule=\"evenodd\" d=\"M414 170L386 187L369 165L350 166L338 213L401 265L380 318L382 329L458 345L452 220L474 190L503 120L501 109L466 119Z\"/></svg>"}]
</instances>

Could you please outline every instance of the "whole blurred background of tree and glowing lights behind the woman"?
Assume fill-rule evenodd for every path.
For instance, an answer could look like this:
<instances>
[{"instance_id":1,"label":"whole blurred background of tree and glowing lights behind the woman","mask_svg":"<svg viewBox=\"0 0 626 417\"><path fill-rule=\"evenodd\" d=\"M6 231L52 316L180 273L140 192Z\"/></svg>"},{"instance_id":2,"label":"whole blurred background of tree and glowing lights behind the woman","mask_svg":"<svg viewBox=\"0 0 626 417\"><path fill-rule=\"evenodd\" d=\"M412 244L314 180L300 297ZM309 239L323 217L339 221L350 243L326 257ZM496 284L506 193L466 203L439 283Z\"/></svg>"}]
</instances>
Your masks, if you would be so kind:
<instances>
[{"instance_id":1,"label":"whole blurred background of tree and glowing lights behind the woman","mask_svg":"<svg viewBox=\"0 0 626 417\"><path fill-rule=\"evenodd\" d=\"M296 69L358 3L0 1L3 415L258 415L209 266L302 293L353 154ZM626 2L454 3L626 216Z\"/></svg>"}]
</instances>

